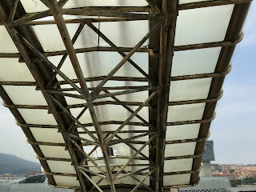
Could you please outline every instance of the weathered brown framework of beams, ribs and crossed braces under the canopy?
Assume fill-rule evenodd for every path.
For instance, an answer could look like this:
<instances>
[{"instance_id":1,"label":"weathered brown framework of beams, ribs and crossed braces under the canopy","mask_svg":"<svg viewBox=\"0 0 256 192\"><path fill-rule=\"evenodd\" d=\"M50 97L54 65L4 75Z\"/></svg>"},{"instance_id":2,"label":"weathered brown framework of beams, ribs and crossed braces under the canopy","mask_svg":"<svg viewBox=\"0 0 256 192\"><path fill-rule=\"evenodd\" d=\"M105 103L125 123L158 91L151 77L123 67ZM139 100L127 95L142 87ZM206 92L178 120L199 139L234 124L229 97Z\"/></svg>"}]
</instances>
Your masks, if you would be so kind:
<instances>
[{"instance_id":1,"label":"weathered brown framework of beams, ribs and crossed braces under the canopy","mask_svg":"<svg viewBox=\"0 0 256 192\"><path fill-rule=\"evenodd\" d=\"M223 0L213 2L197 2L190 3L187 5L178 6L177 1L167 0L146 0L150 6L147 7L81 7L75 9L62 9L68 0L42 0L43 3L49 10L42 11L35 14L26 14L22 9L22 4L18 0L13 1L2 1L0 3L0 14L2 25L6 27L6 30L13 39L15 45L19 50L19 54L0 54L1 58L20 58L20 62L26 62L26 65L33 74L36 82L0 82L1 96L3 98L4 106L9 107L17 119L17 124L22 126L24 130L27 142L29 142L37 154L38 159L42 163L43 171L47 174L50 185L57 186L54 182L53 175L66 175L71 177L77 177L82 191L92 191L97 189L103 191L99 186L99 183L103 180L107 180L110 183L112 192L115 192L118 186L114 185L114 181L130 177L133 178L138 184L132 186L131 191L134 192L138 188L150 190L150 191L162 191L163 190L163 177L164 175L173 174L191 174L190 185L193 186L198 182L198 172L200 170L200 162L203 153L203 146L205 145L206 138L209 137L210 122L214 119L214 107L219 98L222 97L221 85L223 77L230 72L231 67L228 66L229 62L225 61L226 57L230 57L234 50L234 45L242 40L242 34L239 32L231 33L229 30L227 37L224 42L214 43L202 43L198 45L190 46L174 46L174 35L176 18L178 10L194 9L205 6L218 6L226 4L238 4L237 10L241 14L245 14L246 6L250 1L241 0ZM240 5L244 3L244 5ZM86 16L101 16L108 18L85 18L85 19L73 19L65 20L62 15L86 15ZM38 18L45 18L47 16L53 16L54 20L50 21L35 21ZM111 42L97 27L92 23L94 22L118 22L118 21L136 21L136 20L149 20L150 31L146 34L141 41L134 47L118 47ZM71 38L66 28L67 23L80 23L78 30ZM66 47L66 50L56 52L44 52L42 46L35 37L30 26L33 25L48 25L56 24L58 26L59 34L62 37L62 41ZM233 23L230 24L230 27ZM237 28L239 28L239 24ZM74 42L78 39L79 34L84 26L90 27L94 30L99 37L101 37L110 47L90 47L84 49L74 49ZM149 47L141 47L146 40L150 40ZM174 51L179 50L192 50L202 49L206 47L222 46L222 58L218 62L218 70L213 74L198 74L198 75L187 75L175 78L170 78L171 62ZM122 61L110 71L109 74L103 77L86 78L82 74L81 66L78 62L77 53L85 53L91 51L115 51L122 55ZM126 54L126 52L129 52ZM135 63L131 56L135 52L146 52L150 54L150 70L149 73L142 70L139 64ZM47 57L54 55L62 55L61 61L58 66L54 66ZM223 56L224 55L224 56ZM62 73L62 64L65 62L67 57L70 57L70 61L74 68L76 79L70 79L66 74ZM116 77L114 74L124 65L124 63L130 62L135 69L137 69L145 78L132 78L132 77ZM64 81L58 81L56 75L60 75ZM169 102L169 89L170 81L194 79L194 78L214 78L212 82L212 88L210 96L206 99L201 100L190 100L181 102ZM122 87L103 87L106 82L110 80L116 81L134 81L134 82L148 82L149 86L122 86ZM90 81L101 81L96 87L88 87L87 82ZM218 83L217 83L218 82ZM70 85L72 88L63 89L60 85ZM37 90L41 90L42 94L46 98L48 106L28 106L28 105L14 105L5 91L2 89L3 85L14 85L14 86L37 86ZM78 86L79 85L79 86ZM67 93L66 91L72 90L74 94ZM110 92L110 90L118 90ZM149 97L144 102L122 102L116 96L122 94L136 93L140 91L149 91ZM101 92L104 94L100 94ZM65 98L80 98L86 101L85 104L78 105L67 105ZM111 101L106 102L94 102L97 98L112 98ZM206 102L205 114L202 120L188 121L188 122L166 122L166 113L168 106L174 105L185 105L192 103ZM99 122L98 117L95 113L94 106L102 106L106 104L119 105L130 112L130 117L124 122ZM132 110L131 106L137 106L136 110ZM82 107L82 112L74 117L70 113L70 109ZM146 121L142 118L138 112L143 107L149 107L150 109L150 120ZM54 114L54 118L58 122L58 126L47 126L47 125L31 125L21 118L18 113L18 108L24 109L46 109L49 113ZM93 123L82 124L79 122L79 118L82 114L90 111L90 117ZM130 122L134 117L139 118L142 122ZM166 141L166 126L171 125L185 125L192 123L202 123L200 134L196 139L180 140L180 141ZM101 125L119 125L115 131L103 131ZM136 130L139 133L137 136L130 138L122 138L122 133L133 133L132 130L122 130L126 125L133 126L147 126L149 130ZM95 130L91 131L87 127L94 126ZM36 142L33 135L30 133L29 127L50 127L58 129L62 133L65 143L50 143L50 142ZM82 128L82 132L78 132L77 128ZM90 136L90 139L81 138L79 134L86 134ZM138 138L148 136L146 142L138 141ZM134 139L137 139L134 141ZM180 157L164 157L164 150L167 144L182 143L182 142L198 142L194 155L186 155ZM126 157L122 155L113 155L108 152L110 146L118 143L124 143L129 146L131 150L134 150L134 155ZM137 149L132 144L141 144L142 146ZM42 151L38 145L46 146L66 146L66 150L69 151L71 159L68 158L45 158L42 155ZM94 149L90 153L86 153L82 146L94 146ZM142 153L142 150L149 146L150 154L147 157ZM100 148L102 150L102 158L92 158L91 154L95 150ZM111 164L111 158L123 158L127 159L125 164ZM179 159L179 158L194 158L194 166L190 171L182 172L170 172L164 173L163 165L165 160ZM133 163L134 159L144 159L149 163L136 164ZM72 162L76 174L62 174L50 172L47 166L46 160L53 161L65 161ZM104 160L105 164L98 164L98 160ZM97 172L90 170L92 165L98 169ZM143 166L144 168L127 171L126 167ZM144 176L142 179L138 179L136 175ZM94 182L92 177L98 176L100 180ZM146 186L143 182L146 178L150 178L150 186ZM58 186L57 186L58 187ZM69 186L66 186L67 188ZM72 186L71 186L72 187ZM167 187L167 186L165 186ZM168 186L175 187L175 186Z\"/></svg>"}]
</instances>

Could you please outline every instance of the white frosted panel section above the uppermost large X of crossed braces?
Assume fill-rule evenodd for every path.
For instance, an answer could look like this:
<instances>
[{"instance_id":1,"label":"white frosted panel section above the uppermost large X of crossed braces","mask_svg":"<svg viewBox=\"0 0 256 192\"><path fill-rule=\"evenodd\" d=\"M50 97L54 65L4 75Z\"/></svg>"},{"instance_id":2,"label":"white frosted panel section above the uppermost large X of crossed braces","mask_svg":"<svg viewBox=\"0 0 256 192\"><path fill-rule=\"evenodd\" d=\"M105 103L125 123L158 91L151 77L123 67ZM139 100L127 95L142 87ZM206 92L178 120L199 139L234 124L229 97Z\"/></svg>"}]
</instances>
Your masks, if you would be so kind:
<instances>
[{"instance_id":1,"label":"white frosted panel section above the uppermost large X of crossed braces","mask_svg":"<svg viewBox=\"0 0 256 192\"><path fill-rule=\"evenodd\" d=\"M148 33L149 22L102 22L100 30L116 46L134 47ZM147 40L142 46L147 46L148 44ZM100 41L100 46L109 46L109 44L102 40Z\"/></svg>"}]
</instances>

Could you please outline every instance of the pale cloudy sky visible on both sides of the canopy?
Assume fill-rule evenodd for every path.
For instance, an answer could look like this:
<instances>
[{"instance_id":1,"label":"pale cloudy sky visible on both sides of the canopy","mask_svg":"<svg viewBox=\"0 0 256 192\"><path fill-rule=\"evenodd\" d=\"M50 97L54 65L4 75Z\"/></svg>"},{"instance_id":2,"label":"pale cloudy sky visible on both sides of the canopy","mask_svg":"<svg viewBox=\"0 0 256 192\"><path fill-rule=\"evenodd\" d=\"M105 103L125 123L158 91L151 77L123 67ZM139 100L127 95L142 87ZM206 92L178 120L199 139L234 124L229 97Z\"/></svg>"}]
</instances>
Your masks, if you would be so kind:
<instances>
[{"instance_id":1,"label":"pale cloudy sky visible on both sides of the canopy","mask_svg":"<svg viewBox=\"0 0 256 192\"><path fill-rule=\"evenodd\" d=\"M255 4L255 2L254 2ZM226 77L224 95L217 106L211 130L215 162L256 163L256 6L253 4L237 46L233 68ZM38 162L25 134L10 111L0 105L0 153Z\"/></svg>"}]
</instances>

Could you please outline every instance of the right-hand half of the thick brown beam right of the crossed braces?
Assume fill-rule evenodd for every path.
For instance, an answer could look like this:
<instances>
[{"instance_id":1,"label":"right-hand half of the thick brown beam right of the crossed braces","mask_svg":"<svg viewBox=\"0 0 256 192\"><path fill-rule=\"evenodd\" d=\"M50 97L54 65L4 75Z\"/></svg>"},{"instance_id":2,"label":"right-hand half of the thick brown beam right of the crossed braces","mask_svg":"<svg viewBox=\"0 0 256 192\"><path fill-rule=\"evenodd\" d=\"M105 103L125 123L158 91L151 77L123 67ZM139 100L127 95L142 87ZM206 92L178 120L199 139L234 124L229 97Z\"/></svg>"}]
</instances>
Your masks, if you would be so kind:
<instances>
[{"instance_id":1,"label":"right-hand half of the thick brown beam right of the crossed braces","mask_svg":"<svg viewBox=\"0 0 256 192\"><path fill-rule=\"evenodd\" d=\"M163 167L164 167L164 154L166 145L166 118L169 102L169 90L170 90L170 70L171 61L174 55L174 34L177 15L171 13L177 12L178 2L173 1L159 1L162 3L162 14L164 15L164 22L159 33L160 45L159 45L159 66L158 66L158 83L162 87L162 90L158 93L157 102L157 129L158 136L156 141L156 164L158 165L158 171L154 178L155 191L162 191L163 186Z\"/></svg>"}]
</instances>

